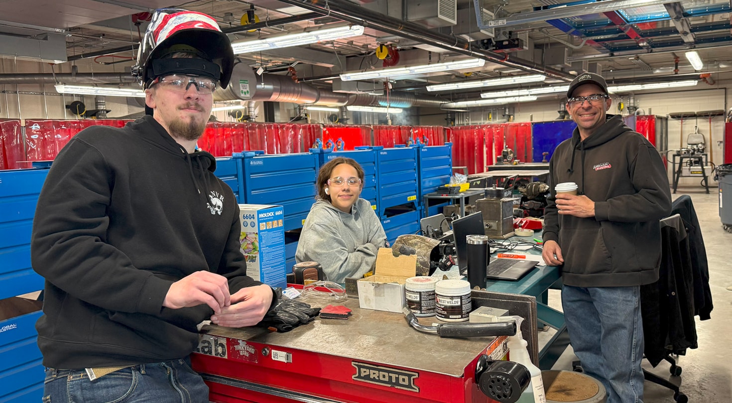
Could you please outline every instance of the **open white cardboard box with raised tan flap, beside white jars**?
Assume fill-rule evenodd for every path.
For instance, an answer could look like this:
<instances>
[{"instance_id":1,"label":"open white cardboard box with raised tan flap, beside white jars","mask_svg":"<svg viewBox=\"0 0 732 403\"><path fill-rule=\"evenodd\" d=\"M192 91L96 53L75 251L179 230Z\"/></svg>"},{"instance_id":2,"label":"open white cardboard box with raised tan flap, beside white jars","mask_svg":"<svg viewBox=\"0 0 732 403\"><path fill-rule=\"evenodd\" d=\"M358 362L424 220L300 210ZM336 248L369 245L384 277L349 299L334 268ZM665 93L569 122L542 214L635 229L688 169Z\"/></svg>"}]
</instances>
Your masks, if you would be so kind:
<instances>
[{"instance_id":1,"label":"open white cardboard box with raised tan flap, beside white jars","mask_svg":"<svg viewBox=\"0 0 732 403\"><path fill-rule=\"evenodd\" d=\"M377 311L402 312L404 284L417 275L417 256L394 257L391 248L379 248L374 275L356 281L359 306Z\"/></svg>"}]
</instances>

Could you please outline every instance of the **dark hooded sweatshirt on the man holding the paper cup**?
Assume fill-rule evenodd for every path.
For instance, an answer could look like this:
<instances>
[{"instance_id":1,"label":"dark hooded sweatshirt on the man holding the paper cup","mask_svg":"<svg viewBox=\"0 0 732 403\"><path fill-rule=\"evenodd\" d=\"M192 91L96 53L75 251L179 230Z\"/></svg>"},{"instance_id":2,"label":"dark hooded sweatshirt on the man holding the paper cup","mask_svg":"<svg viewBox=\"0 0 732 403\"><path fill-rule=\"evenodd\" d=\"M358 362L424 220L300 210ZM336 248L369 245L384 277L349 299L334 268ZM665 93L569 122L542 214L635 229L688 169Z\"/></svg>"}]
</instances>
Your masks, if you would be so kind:
<instances>
[{"instance_id":1,"label":"dark hooded sweatshirt on the man holding the paper cup","mask_svg":"<svg viewBox=\"0 0 732 403\"><path fill-rule=\"evenodd\" d=\"M549 162L551 193L544 241L559 243L569 286L635 286L658 279L661 218L671 213L671 191L657 149L640 133L608 115L605 124L580 141L556 147ZM578 194L595 202L595 215L560 215L554 186L575 182Z\"/></svg>"}]
</instances>

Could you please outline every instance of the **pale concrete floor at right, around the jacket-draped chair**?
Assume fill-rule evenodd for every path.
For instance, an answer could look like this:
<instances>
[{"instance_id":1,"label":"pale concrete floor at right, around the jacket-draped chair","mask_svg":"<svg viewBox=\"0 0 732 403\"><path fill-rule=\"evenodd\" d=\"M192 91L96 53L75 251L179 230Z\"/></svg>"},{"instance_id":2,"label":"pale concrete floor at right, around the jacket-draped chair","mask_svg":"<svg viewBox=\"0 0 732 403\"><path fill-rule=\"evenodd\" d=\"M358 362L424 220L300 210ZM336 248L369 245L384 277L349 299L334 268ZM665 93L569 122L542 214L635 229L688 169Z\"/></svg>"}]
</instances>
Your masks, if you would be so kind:
<instances>
[{"instance_id":1,"label":"pale concrete floor at right, around the jacket-draped chair","mask_svg":"<svg viewBox=\"0 0 732 403\"><path fill-rule=\"evenodd\" d=\"M669 374L670 365L665 361L652 368L643 360L643 368L677 385L680 382L681 393L689 398L689 402L728 403L732 402L732 291L726 287L732 286L732 234L722 229L717 188L710 186L710 194L698 189L679 187L673 197L690 195L700 222L709 262L709 286L714 303L712 319L701 321L696 317L699 348L687 350L686 355L678 358L677 364L683 370L680 377ZM559 291L550 291L549 305L561 309ZM539 343L550 335L539 332ZM570 346L553 369L571 370L572 361L576 359ZM643 402L673 402L673 393L668 388L646 381Z\"/></svg>"}]
</instances>

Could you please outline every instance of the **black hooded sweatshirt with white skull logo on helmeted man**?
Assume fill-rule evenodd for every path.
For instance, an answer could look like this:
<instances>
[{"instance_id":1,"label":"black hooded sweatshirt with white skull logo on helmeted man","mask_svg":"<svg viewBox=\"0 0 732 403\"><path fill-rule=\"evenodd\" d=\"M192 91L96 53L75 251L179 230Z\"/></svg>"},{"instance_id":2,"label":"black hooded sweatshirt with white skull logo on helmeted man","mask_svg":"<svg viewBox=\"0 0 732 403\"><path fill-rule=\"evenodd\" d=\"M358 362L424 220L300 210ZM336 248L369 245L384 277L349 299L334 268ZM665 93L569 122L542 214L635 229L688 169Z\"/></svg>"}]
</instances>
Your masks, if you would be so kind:
<instances>
[{"instance_id":1,"label":"black hooded sweatshirt with white skull logo on helmeted man","mask_svg":"<svg viewBox=\"0 0 732 403\"><path fill-rule=\"evenodd\" d=\"M43 365L83 369L184 358L213 311L163 307L199 270L231 294L260 284L239 251L239 206L208 152L189 154L152 117L93 126L53 161L31 240L45 277L37 322Z\"/></svg>"}]
</instances>

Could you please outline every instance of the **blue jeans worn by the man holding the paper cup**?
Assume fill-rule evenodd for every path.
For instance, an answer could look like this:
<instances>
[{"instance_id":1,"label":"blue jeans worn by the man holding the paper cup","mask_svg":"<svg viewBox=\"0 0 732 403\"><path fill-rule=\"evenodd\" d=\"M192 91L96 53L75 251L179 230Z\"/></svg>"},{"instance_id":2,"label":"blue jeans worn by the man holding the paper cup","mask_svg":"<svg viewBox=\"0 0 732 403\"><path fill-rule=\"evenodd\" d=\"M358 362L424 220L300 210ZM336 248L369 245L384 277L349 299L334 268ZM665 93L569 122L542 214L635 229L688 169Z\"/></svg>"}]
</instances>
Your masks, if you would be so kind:
<instances>
[{"instance_id":1,"label":"blue jeans worn by the man holding the paper cup","mask_svg":"<svg viewBox=\"0 0 732 403\"><path fill-rule=\"evenodd\" d=\"M562 286L569 342L608 403L643 403L641 287Z\"/></svg>"}]
</instances>

